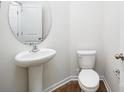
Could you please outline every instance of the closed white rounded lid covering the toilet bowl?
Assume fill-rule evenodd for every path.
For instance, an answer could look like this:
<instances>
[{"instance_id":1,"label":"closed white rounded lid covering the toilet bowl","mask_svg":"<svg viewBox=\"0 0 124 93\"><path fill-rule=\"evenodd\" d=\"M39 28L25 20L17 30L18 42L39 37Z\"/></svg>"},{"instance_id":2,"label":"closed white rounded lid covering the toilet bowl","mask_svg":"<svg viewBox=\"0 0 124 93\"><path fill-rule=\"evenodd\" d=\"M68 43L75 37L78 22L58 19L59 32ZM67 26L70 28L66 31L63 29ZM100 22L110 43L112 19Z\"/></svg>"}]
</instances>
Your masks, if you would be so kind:
<instances>
[{"instance_id":1,"label":"closed white rounded lid covering the toilet bowl","mask_svg":"<svg viewBox=\"0 0 124 93\"><path fill-rule=\"evenodd\" d=\"M99 84L99 75L92 69L82 70L79 74L79 80L83 86L94 88Z\"/></svg>"}]
</instances>

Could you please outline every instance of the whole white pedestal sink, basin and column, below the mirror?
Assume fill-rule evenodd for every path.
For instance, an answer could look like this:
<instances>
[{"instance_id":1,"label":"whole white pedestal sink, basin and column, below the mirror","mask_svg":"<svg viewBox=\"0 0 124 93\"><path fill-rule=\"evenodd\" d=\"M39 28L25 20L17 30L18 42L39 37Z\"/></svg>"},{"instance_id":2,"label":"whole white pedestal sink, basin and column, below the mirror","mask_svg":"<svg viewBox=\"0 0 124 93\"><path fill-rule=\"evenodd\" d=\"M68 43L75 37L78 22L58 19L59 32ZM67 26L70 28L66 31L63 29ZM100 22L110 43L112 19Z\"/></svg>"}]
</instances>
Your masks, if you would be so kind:
<instances>
[{"instance_id":1,"label":"whole white pedestal sink, basin and column, below the mirror","mask_svg":"<svg viewBox=\"0 0 124 93\"><path fill-rule=\"evenodd\" d=\"M28 67L29 91L42 92L42 68L56 54L53 49L41 49L37 52L24 51L15 56L15 63L20 67Z\"/></svg>"}]
</instances>

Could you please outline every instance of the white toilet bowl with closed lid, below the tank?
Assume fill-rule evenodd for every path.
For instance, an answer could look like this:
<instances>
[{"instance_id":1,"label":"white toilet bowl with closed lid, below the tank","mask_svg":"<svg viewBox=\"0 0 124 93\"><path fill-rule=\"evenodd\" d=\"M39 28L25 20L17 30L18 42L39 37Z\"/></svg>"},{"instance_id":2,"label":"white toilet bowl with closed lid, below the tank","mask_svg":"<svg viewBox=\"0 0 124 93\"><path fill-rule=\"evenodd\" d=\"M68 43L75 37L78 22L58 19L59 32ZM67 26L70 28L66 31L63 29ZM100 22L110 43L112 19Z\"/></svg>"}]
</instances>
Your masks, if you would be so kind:
<instances>
[{"instance_id":1,"label":"white toilet bowl with closed lid, below the tank","mask_svg":"<svg viewBox=\"0 0 124 93\"><path fill-rule=\"evenodd\" d=\"M99 75L93 69L82 69L78 83L82 91L95 92L99 88Z\"/></svg>"}]
</instances>

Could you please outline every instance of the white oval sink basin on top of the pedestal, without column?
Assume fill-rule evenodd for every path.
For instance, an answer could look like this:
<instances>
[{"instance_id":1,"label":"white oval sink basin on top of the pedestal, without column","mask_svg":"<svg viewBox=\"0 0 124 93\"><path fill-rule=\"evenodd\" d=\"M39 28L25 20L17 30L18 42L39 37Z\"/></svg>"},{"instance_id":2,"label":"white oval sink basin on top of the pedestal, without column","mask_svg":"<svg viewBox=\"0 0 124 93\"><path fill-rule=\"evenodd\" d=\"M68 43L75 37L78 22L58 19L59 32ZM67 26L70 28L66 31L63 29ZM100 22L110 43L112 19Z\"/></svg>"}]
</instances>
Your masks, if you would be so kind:
<instances>
[{"instance_id":1,"label":"white oval sink basin on top of the pedestal, without column","mask_svg":"<svg viewBox=\"0 0 124 93\"><path fill-rule=\"evenodd\" d=\"M30 67L40 65L50 61L56 54L53 49L41 49L37 52L24 51L15 57L15 63L21 67Z\"/></svg>"}]
</instances>

